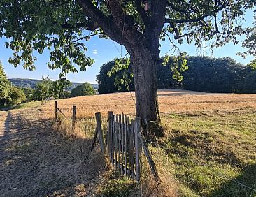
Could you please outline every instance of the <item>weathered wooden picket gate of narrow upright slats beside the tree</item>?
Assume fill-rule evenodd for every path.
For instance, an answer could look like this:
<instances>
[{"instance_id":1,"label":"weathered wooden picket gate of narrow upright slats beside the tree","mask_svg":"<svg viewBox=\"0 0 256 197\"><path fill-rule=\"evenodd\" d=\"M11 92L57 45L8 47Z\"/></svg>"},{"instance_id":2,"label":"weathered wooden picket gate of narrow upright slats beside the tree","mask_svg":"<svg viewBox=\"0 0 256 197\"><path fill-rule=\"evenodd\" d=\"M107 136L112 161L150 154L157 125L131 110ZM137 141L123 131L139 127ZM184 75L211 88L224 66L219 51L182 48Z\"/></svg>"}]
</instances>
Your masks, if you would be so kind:
<instances>
[{"instance_id":1,"label":"weathered wooden picket gate of narrow upright slats beside the tree","mask_svg":"<svg viewBox=\"0 0 256 197\"><path fill-rule=\"evenodd\" d=\"M115 168L139 182L141 143L141 118L130 119L127 115L108 112L108 156Z\"/></svg>"}]
</instances>

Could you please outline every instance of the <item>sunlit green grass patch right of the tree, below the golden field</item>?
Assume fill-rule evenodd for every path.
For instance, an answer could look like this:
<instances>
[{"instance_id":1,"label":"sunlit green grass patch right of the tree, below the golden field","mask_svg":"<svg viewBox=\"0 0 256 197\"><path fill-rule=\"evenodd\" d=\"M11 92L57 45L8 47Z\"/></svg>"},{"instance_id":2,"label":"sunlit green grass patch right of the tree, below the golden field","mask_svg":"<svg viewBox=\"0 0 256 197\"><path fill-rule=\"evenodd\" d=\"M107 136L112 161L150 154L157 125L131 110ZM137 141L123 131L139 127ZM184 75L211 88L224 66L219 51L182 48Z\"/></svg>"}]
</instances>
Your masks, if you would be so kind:
<instances>
[{"instance_id":1,"label":"sunlit green grass patch right of the tree, below the golden field","mask_svg":"<svg viewBox=\"0 0 256 197\"><path fill-rule=\"evenodd\" d=\"M256 196L255 117L253 110L162 117L166 136L152 152L169 163L179 196Z\"/></svg>"}]
</instances>

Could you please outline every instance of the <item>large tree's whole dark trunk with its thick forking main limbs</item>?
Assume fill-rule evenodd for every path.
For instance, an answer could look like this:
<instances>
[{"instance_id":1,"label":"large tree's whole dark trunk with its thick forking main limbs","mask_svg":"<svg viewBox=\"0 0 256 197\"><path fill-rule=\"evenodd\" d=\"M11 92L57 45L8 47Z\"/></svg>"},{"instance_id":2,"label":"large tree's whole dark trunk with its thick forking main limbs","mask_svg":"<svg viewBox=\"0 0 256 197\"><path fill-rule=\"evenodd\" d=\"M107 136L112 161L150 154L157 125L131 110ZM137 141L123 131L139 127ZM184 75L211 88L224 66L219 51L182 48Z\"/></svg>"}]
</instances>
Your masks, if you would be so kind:
<instances>
[{"instance_id":1,"label":"large tree's whole dark trunk with its thick forking main limbs","mask_svg":"<svg viewBox=\"0 0 256 197\"><path fill-rule=\"evenodd\" d=\"M148 128L150 122L159 120L156 64L159 60L159 36L164 26L167 1L152 1L150 14L145 12L143 1L134 2L145 25L143 32L138 31L138 27L134 25L137 23L134 17L127 14L119 0L106 0L109 16L104 15L92 1L78 2L90 20L96 22L105 34L124 45L129 52L134 72L136 117L141 117L144 128Z\"/></svg>"}]
</instances>

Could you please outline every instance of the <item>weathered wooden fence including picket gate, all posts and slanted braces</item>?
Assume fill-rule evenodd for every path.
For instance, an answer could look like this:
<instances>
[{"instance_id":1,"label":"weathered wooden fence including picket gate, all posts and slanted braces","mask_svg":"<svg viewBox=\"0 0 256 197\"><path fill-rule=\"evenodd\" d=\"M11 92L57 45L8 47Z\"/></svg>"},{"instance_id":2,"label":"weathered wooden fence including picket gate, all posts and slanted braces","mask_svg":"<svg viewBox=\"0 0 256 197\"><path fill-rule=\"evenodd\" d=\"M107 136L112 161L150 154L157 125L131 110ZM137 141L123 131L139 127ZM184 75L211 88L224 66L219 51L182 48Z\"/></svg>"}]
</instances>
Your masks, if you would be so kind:
<instances>
[{"instance_id":1,"label":"weathered wooden fence including picket gate, all posts and slanted braces","mask_svg":"<svg viewBox=\"0 0 256 197\"><path fill-rule=\"evenodd\" d=\"M62 110L57 107L57 101L55 101L55 119L60 124L58 112L66 117ZM73 106L72 117L72 128L74 129L76 126L76 106ZM119 169L122 175L126 175L139 182L141 179L140 158L143 149L152 175L154 175L156 182L159 181L157 168L148 149L143 132L141 132L141 118L130 119L130 117L124 114L113 115L113 112L108 112L108 136L106 143L104 140L104 131L101 126L100 112L95 113L95 119L97 126L92 144L90 145L91 151L94 149L98 137L101 153L106 154L107 144L107 154L112 165Z\"/></svg>"}]
</instances>

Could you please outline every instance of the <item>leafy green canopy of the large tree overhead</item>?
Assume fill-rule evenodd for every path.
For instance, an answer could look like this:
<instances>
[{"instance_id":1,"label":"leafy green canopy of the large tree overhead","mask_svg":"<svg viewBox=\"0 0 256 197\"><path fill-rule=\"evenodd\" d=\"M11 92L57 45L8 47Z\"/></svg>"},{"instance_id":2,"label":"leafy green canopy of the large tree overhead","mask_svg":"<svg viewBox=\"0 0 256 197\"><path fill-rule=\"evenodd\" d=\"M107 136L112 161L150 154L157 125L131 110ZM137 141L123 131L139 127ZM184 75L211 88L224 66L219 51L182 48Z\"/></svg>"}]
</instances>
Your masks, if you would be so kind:
<instances>
[{"instance_id":1,"label":"leafy green canopy of the large tree overhead","mask_svg":"<svg viewBox=\"0 0 256 197\"><path fill-rule=\"evenodd\" d=\"M169 34L178 43L194 41L199 48L219 47L229 41L238 42L243 29L237 20L256 5L253 0L148 2L151 10L147 11L145 2L139 0L5 0L0 3L0 37L8 38L6 47L13 50L9 59L13 65L23 64L33 70L33 51L42 54L48 49L48 68L61 68L59 77L65 78L66 73L78 72L74 65L85 71L94 63L85 54L84 41L91 36L109 37L134 47L136 41L131 37L135 35L157 51L159 45L153 45L159 38L168 39L176 49ZM206 46L210 40L211 45Z\"/></svg>"}]
</instances>

